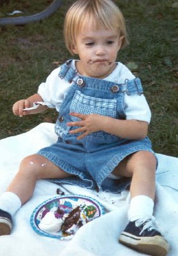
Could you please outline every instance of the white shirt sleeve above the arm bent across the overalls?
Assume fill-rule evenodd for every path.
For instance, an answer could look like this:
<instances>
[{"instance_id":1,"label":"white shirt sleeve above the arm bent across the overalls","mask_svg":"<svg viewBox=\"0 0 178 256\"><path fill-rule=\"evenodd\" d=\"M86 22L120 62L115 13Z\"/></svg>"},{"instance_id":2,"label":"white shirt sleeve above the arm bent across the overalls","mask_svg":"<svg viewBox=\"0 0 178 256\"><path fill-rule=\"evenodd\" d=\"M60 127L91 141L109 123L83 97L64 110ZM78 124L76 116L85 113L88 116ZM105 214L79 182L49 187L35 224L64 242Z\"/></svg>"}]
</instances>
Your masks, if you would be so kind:
<instances>
[{"instance_id":1,"label":"white shirt sleeve above the arm bent across the overalls","mask_svg":"<svg viewBox=\"0 0 178 256\"><path fill-rule=\"evenodd\" d=\"M127 95L125 93L124 112L126 120L134 119L147 122L148 124L151 121L151 110L143 94Z\"/></svg>"}]
</instances>

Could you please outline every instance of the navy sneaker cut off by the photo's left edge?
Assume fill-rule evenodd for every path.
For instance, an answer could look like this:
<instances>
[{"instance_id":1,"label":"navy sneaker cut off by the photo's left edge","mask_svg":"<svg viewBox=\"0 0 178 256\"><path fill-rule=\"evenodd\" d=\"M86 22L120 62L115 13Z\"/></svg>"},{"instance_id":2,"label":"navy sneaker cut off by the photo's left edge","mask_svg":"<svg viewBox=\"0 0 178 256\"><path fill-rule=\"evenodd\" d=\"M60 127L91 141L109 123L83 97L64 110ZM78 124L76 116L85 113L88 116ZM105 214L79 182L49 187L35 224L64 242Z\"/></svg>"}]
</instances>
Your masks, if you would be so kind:
<instances>
[{"instance_id":1,"label":"navy sneaker cut off by the photo's left edge","mask_svg":"<svg viewBox=\"0 0 178 256\"><path fill-rule=\"evenodd\" d=\"M11 215L0 209L0 236L9 235L12 228Z\"/></svg>"}]
</instances>

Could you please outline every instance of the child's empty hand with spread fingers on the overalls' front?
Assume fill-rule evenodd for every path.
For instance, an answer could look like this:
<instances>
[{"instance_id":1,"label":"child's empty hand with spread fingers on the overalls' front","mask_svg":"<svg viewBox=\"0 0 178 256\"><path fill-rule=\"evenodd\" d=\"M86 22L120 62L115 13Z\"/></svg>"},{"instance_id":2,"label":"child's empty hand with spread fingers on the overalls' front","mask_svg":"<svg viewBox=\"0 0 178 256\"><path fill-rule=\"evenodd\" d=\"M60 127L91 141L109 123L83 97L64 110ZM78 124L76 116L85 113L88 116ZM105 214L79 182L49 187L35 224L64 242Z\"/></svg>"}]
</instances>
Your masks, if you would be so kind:
<instances>
[{"instance_id":1,"label":"child's empty hand with spread fingers on the overalls' front","mask_svg":"<svg viewBox=\"0 0 178 256\"><path fill-rule=\"evenodd\" d=\"M75 130L70 131L71 134L75 134L78 132L82 132L80 136L77 137L78 140L84 138L88 134L92 132L98 132L102 130L102 122L107 116L102 116L98 114L90 114L90 115L83 115L79 113L70 113L71 116L76 116L81 120L78 122L68 122L68 126L79 126Z\"/></svg>"}]
</instances>

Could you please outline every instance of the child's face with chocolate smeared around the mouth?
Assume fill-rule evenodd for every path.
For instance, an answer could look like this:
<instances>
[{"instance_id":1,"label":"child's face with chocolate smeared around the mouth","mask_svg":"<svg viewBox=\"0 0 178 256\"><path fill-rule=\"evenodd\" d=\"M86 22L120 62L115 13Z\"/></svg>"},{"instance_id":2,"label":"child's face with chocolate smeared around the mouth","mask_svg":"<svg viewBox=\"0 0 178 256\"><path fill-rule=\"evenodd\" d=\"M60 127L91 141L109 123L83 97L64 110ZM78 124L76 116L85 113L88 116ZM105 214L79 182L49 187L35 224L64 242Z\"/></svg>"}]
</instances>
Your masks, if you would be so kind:
<instances>
[{"instance_id":1,"label":"child's face with chocolate smeared around the mouth","mask_svg":"<svg viewBox=\"0 0 178 256\"><path fill-rule=\"evenodd\" d=\"M117 31L93 30L91 26L78 33L73 52L79 55L77 70L82 76L104 78L115 68L122 38Z\"/></svg>"}]
</instances>

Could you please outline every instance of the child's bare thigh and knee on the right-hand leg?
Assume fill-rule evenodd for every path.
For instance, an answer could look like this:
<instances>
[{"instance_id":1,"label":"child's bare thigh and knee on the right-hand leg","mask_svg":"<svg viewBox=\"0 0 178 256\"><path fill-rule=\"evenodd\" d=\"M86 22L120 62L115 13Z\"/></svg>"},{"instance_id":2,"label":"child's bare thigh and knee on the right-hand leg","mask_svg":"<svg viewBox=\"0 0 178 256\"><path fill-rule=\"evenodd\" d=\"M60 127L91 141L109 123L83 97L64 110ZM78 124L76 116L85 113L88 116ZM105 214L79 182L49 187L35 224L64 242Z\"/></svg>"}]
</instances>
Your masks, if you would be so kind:
<instances>
[{"instance_id":1,"label":"child's bare thigh and knee on the right-hand leg","mask_svg":"<svg viewBox=\"0 0 178 256\"><path fill-rule=\"evenodd\" d=\"M156 171L156 157L152 152L140 150L125 157L112 172L114 175L132 177L135 170Z\"/></svg>"}]
</instances>

